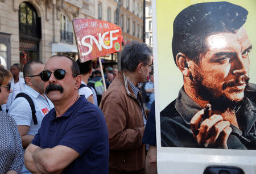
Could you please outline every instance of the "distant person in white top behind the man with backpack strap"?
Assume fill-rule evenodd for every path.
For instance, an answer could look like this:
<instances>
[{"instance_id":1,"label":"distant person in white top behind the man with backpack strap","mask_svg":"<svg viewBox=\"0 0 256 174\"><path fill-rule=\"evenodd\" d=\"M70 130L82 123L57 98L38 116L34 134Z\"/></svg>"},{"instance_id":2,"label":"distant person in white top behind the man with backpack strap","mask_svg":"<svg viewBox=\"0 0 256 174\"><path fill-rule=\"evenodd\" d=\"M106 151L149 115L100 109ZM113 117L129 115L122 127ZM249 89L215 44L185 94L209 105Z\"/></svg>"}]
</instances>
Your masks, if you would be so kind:
<instances>
[{"instance_id":1,"label":"distant person in white top behind the man with backpack strap","mask_svg":"<svg viewBox=\"0 0 256 174\"><path fill-rule=\"evenodd\" d=\"M11 94L9 95L9 98L7 100L7 103L2 105L2 111L8 112L9 107L11 103L13 103L13 100L15 99L16 95L19 94L20 91L24 90L25 81L23 78L19 77L20 72L20 65L18 63L14 63L11 66L11 74L13 74L13 80L11 80Z\"/></svg>"}]
</instances>

